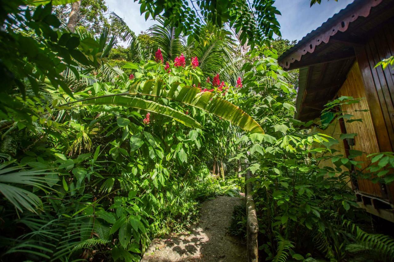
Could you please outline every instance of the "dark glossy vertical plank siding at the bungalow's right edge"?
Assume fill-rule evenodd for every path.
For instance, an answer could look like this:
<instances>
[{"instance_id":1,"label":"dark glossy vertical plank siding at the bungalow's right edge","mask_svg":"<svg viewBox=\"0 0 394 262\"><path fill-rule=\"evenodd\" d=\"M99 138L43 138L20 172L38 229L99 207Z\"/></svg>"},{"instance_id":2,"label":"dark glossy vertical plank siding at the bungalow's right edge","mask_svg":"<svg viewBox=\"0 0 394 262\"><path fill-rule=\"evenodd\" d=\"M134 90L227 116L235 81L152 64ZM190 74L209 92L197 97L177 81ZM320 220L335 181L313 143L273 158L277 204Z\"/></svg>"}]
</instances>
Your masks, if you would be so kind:
<instances>
[{"instance_id":1,"label":"dark glossy vertical plank siding at the bungalow's right edge","mask_svg":"<svg viewBox=\"0 0 394 262\"><path fill-rule=\"evenodd\" d=\"M393 151L394 148L394 70L391 66L384 71L381 66L375 68L379 61L394 55L394 29L390 25L392 22L377 27L379 29L364 46L355 47L380 152ZM373 188L370 193L376 194L377 188ZM372 190L369 186L364 189ZM385 190L389 195L388 199L394 203L394 184L381 194L385 195Z\"/></svg>"}]
</instances>

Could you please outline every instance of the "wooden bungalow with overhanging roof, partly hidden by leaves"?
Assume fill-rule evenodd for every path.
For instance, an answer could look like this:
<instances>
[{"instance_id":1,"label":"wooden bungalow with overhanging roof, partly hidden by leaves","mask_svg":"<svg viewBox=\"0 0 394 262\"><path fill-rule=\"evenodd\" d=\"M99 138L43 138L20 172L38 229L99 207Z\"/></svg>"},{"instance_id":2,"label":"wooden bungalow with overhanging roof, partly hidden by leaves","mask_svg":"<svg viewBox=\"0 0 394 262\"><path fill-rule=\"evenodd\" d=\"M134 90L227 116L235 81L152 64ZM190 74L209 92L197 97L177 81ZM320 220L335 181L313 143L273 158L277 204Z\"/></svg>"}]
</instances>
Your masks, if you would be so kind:
<instances>
[{"instance_id":1,"label":"wooden bungalow with overhanging roof, partly hidden by leaves","mask_svg":"<svg viewBox=\"0 0 394 262\"><path fill-rule=\"evenodd\" d=\"M336 137L341 132L357 133L353 145L343 140L338 146L344 155L346 149L365 152L357 161L367 161L370 153L393 151L394 68L375 68L391 55L394 0L355 0L279 57L279 65L285 70L299 68L295 118L319 118L323 106L338 96L366 98L346 108L369 109L354 113L363 119L362 123L342 122L325 132ZM351 186L361 207L394 222L394 183L357 179Z\"/></svg>"}]
</instances>

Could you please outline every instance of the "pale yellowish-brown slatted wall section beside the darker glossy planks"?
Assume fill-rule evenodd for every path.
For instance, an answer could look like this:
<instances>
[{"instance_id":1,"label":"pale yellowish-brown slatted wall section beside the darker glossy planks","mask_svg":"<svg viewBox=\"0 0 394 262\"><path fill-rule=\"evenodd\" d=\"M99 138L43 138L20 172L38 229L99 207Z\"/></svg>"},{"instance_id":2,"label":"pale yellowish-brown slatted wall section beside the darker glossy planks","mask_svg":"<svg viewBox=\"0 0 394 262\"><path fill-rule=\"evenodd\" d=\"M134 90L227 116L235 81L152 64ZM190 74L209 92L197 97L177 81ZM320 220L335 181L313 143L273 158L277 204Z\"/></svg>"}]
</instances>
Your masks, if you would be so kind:
<instances>
[{"instance_id":1,"label":"pale yellowish-brown slatted wall section beside the darker glossy planks","mask_svg":"<svg viewBox=\"0 0 394 262\"><path fill-rule=\"evenodd\" d=\"M367 155L379 152L379 145L377 144L377 138L375 134L375 127L372 122L370 111L363 112L361 110L370 110L368 101L365 99L365 88L362 82L362 76L360 73L359 65L357 62L353 64L349 70L348 76L338 91L338 96L352 96L353 98L364 98L359 103L350 105L343 105L342 110L344 114L352 114L352 119L362 119L362 122L345 122L346 133L356 133L354 146L351 149L365 152L359 157L356 157L356 161L362 161L361 168L356 171L364 170L370 161L367 159ZM377 197L385 197L381 193L381 187L379 184L372 183L366 179L357 180L358 190L366 194L370 194Z\"/></svg>"}]
</instances>

